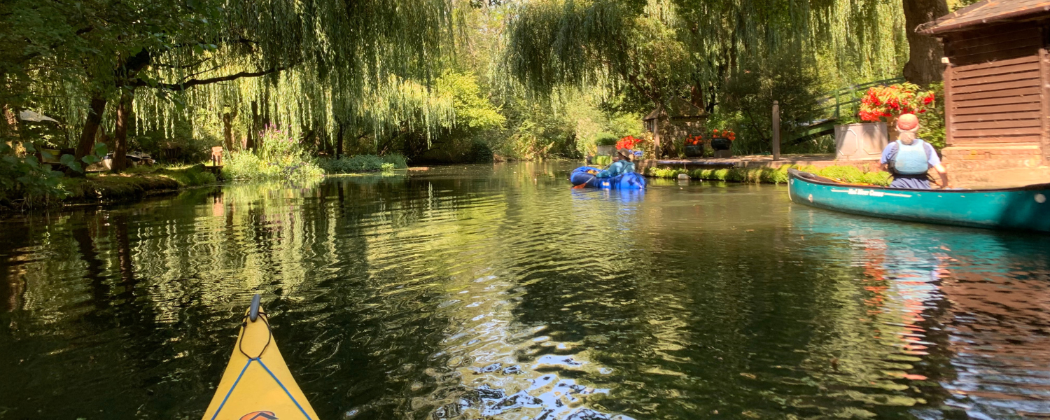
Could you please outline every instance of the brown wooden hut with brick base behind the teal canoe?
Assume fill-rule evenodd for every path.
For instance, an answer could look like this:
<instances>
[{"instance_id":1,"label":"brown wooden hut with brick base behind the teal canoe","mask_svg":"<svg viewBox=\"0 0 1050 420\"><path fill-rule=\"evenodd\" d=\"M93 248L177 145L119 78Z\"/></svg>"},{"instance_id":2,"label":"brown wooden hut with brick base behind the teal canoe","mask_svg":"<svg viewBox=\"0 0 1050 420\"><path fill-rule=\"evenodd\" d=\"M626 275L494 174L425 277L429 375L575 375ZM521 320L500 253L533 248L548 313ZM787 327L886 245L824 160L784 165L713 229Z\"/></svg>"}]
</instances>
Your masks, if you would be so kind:
<instances>
[{"instance_id":1,"label":"brown wooden hut with brick base behind the teal canoe","mask_svg":"<svg viewBox=\"0 0 1050 420\"><path fill-rule=\"evenodd\" d=\"M942 150L962 184L1050 176L1050 1L984 0L925 23L944 43Z\"/></svg>"}]
</instances>

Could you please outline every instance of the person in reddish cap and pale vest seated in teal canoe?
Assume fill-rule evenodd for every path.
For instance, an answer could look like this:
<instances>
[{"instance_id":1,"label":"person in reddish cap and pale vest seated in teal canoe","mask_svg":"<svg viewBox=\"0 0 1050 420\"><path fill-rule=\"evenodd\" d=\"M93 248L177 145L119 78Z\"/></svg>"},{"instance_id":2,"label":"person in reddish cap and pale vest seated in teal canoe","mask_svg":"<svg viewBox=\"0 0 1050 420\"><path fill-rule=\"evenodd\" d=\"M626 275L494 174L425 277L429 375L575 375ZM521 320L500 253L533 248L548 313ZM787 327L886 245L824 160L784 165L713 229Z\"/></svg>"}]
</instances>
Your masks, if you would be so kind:
<instances>
[{"instance_id":1,"label":"person in reddish cap and pale vest seated in teal canoe","mask_svg":"<svg viewBox=\"0 0 1050 420\"><path fill-rule=\"evenodd\" d=\"M919 118L914 113L904 113L897 119L897 129L900 135L882 150L882 169L894 174L891 188L930 189L929 168L937 169L941 175L941 188L948 188L948 171L941 165L933 146L917 136Z\"/></svg>"}]
</instances>

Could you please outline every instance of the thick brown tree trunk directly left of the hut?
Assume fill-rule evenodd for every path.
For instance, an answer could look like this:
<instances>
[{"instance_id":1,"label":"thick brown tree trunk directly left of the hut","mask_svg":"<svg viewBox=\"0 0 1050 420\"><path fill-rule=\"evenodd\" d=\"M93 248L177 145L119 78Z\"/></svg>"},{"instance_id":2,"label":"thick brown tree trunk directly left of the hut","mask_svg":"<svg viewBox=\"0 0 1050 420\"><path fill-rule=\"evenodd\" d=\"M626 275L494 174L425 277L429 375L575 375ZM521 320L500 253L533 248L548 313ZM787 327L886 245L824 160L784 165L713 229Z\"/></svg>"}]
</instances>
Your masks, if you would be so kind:
<instances>
[{"instance_id":1,"label":"thick brown tree trunk directly left of the hut","mask_svg":"<svg viewBox=\"0 0 1050 420\"><path fill-rule=\"evenodd\" d=\"M926 86L942 79L944 47L937 38L916 33L916 27L948 14L945 0L902 0L904 28L908 37L908 63L904 79Z\"/></svg>"}]
</instances>

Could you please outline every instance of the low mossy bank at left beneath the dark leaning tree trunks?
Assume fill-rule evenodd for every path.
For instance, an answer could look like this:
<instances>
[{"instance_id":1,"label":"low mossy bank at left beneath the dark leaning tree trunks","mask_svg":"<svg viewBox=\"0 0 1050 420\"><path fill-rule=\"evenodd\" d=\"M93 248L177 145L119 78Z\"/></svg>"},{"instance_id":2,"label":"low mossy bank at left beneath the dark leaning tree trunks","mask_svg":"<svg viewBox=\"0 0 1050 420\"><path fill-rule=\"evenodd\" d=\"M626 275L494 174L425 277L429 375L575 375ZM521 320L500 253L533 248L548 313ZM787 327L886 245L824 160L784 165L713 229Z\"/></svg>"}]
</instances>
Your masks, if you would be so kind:
<instances>
[{"instance_id":1,"label":"low mossy bank at left beneath the dark leaning tree trunks","mask_svg":"<svg viewBox=\"0 0 1050 420\"><path fill-rule=\"evenodd\" d=\"M63 202L118 202L156 192L214 184L215 175L204 165L187 167L136 167L125 173L89 173L85 177L62 178L69 195Z\"/></svg>"}]
</instances>

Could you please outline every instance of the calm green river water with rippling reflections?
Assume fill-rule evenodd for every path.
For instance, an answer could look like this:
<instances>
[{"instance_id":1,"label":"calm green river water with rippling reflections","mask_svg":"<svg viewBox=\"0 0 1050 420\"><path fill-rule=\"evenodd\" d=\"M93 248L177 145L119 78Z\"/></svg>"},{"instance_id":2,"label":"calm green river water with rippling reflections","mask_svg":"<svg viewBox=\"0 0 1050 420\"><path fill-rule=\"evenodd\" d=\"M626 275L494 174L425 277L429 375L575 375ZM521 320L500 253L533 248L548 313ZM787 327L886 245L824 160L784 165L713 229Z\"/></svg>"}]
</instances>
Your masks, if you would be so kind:
<instances>
[{"instance_id":1,"label":"calm green river water with rippling reflections","mask_svg":"<svg viewBox=\"0 0 1050 420\"><path fill-rule=\"evenodd\" d=\"M322 419L1050 416L1050 236L569 169L0 222L0 418L200 418L256 292Z\"/></svg>"}]
</instances>

